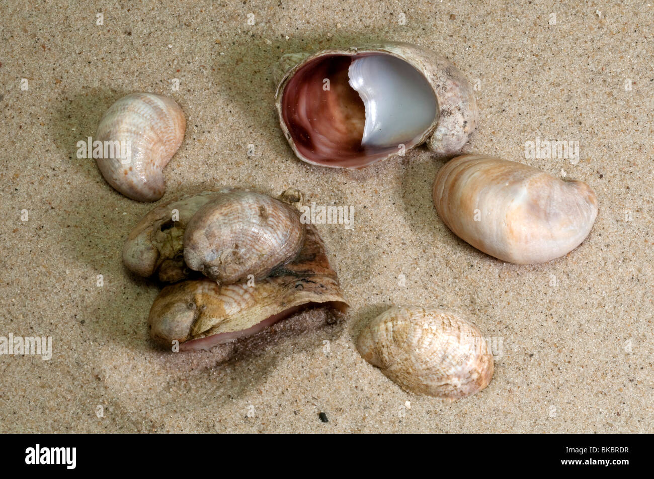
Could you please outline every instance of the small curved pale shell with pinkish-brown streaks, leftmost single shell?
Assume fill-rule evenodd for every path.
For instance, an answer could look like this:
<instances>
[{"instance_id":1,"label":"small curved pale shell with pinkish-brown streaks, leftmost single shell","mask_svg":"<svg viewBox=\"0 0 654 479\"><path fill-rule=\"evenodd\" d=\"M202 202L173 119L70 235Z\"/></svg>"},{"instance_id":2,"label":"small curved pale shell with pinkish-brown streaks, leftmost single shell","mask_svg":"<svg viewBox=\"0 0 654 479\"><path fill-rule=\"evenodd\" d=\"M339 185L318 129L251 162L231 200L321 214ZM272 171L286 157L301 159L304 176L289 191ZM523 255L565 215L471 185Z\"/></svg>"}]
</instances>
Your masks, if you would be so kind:
<instances>
[{"instance_id":1,"label":"small curved pale shell with pinkish-brown streaks, leftmost single shell","mask_svg":"<svg viewBox=\"0 0 654 479\"><path fill-rule=\"evenodd\" d=\"M131 93L109 107L97 127L96 139L128 145L126 158L97 158L107 183L128 198L156 201L165 191L163 167L184 139L186 118L170 98Z\"/></svg>"}]
</instances>

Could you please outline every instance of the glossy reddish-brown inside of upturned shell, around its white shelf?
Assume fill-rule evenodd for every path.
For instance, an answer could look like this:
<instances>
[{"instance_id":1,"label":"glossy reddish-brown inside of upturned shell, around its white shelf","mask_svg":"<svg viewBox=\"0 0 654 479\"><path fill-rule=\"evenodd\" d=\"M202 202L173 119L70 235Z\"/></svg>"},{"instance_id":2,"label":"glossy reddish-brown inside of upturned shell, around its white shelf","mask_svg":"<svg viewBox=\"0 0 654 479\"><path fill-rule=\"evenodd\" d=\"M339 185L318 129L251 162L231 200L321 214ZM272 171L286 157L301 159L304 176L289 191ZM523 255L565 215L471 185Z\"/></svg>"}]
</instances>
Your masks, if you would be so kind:
<instances>
[{"instance_id":1,"label":"glossy reddish-brown inside of upturned shell, around its white shelf","mask_svg":"<svg viewBox=\"0 0 654 479\"><path fill-rule=\"evenodd\" d=\"M407 133L404 139L387 146L362 144L366 128L366 107L360 93L351 86L349 78L353 61L371 56L388 56L404 62L413 69L414 78L421 78L418 80L422 82L419 88L430 91L434 103L434 118L426 127L417 133ZM383 73L379 73L377 79L383 80ZM398 115L392 112L387 114L384 126L389 129L402 127L402 122L394 117L401 116L403 94L403 91L394 91L394 95L387 95L385 99L387 102L396 102L400 109ZM375 108L372 100L369 100L368 107L380 109L378 106ZM290 141L307 161L331 167L360 168L419 144L424 133L436 120L438 108L430 84L404 59L386 52L362 52L318 56L303 64L284 86L281 114ZM370 114L371 111L368 111L368 116Z\"/></svg>"}]
</instances>

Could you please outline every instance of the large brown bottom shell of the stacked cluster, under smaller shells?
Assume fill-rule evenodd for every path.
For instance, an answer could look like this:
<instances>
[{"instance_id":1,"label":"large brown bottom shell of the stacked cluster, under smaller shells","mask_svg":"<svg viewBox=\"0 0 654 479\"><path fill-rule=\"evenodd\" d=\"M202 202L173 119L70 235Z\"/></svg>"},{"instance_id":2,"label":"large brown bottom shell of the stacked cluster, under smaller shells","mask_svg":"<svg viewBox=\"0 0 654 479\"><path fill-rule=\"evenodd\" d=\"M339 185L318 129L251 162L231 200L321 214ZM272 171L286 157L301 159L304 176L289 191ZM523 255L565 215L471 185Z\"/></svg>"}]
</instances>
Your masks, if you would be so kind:
<instances>
[{"instance_id":1,"label":"large brown bottom shell of the stacked cluster, under smaller shells","mask_svg":"<svg viewBox=\"0 0 654 479\"><path fill-rule=\"evenodd\" d=\"M187 280L162 289L148 323L150 335L169 348L208 349L243 340L311 306L339 317L349 305L330 267L326 248L313 225L296 258L251 284L217 284L208 278Z\"/></svg>"}]
</instances>

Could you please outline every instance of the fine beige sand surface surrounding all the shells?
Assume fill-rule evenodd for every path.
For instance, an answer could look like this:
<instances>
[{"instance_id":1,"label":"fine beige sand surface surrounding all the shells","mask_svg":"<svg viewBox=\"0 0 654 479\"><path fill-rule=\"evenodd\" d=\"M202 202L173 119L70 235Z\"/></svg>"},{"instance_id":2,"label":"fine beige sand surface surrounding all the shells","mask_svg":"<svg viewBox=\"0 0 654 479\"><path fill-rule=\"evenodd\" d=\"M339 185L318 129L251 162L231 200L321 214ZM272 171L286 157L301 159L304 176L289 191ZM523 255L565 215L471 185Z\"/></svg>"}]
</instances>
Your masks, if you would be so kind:
<instances>
[{"instance_id":1,"label":"fine beige sand surface surrounding all the shells","mask_svg":"<svg viewBox=\"0 0 654 479\"><path fill-rule=\"evenodd\" d=\"M652 4L1 3L0 335L52 336L53 357L0 356L0 431L653 432ZM594 188L600 213L579 248L520 266L458 240L432 206L443 159L426 148L364 171L292 155L273 63L383 39L432 48L479 79L467 152ZM228 184L354 206L352 230L318 226L353 306L343 327L227 367L211 352L153 348L146 316L158 289L120 261L153 205L112 190L75 146L133 91L170 95L186 114L162 201ZM536 137L579 141L581 161L526 160ZM452 308L501 339L489 388L448 403L404 393L368 365L353 338L392 304Z\"/></svg>"}]
</instances>

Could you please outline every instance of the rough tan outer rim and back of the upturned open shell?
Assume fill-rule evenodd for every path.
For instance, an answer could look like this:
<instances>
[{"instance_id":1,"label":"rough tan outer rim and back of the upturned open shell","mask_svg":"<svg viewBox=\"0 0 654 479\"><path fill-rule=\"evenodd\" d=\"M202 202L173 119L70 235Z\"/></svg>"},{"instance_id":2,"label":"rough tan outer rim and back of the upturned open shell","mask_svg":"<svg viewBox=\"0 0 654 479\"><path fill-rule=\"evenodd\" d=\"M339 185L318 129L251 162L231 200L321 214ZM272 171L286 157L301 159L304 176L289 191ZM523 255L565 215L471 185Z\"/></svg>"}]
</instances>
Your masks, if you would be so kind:
<instances>
[{"instance_id":1,"label":"rough tan outer rim and back of the upturned open shell","mask_svg":"<svg viewBox=\"0 0 654 479\"><path fill-rule=\"evenodd\" d=\"M459 152L462 146L466 144L479 121L479 112L470 84L453 63L443 56L414 44L402 42L364 44L351 46L350 48L322 50L315 54L286 54L279 60L279 65L273 70L275 81L278 82L275 105L281 129L290 147L302 161L328 167L362 168L400 154L398 148L394 148L390 152L380 152L356 160L314 161L300 151L298 145L296 145L293 132L290 131L284 120L283 100L285 88L294 74L305 65L327 56L354 57L380 53L403 59L417 69L432 86L434 95L436 95L438 114L434 118L434 122L417 140L406 144L405 149L409 150L426 142L427 146L436 154L445 156Z\"/></svg>"}]
</instances>

